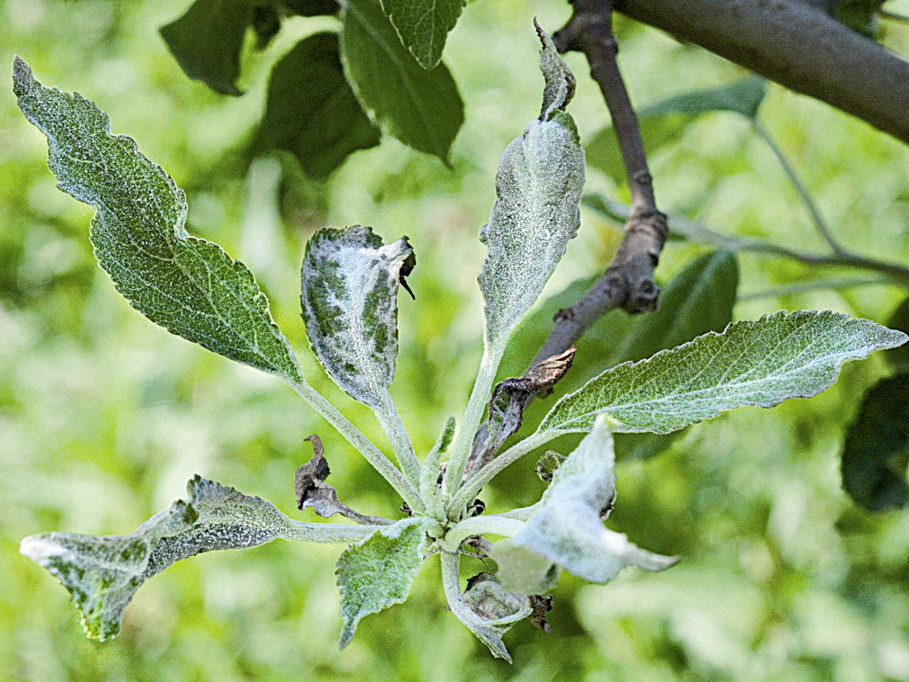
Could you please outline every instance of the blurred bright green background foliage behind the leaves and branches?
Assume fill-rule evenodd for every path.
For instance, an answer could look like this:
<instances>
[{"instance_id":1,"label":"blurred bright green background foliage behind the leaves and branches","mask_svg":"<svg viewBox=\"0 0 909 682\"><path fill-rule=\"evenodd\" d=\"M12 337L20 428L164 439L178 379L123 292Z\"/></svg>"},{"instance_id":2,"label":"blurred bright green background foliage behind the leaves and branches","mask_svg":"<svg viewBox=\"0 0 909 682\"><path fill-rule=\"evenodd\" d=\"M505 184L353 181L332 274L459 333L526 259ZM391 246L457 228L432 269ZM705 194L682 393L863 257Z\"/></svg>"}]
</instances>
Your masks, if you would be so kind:
<instances>
[{"instance_id":1,"label":"blurred bright green background foliage behind the leaves and branches","mask_svg":"<svg viewBox=\"0 0 909 682\"><path fill-rule=\"evenodd\" d=\"M417 299L401 301L393 393L425 450L459 415L481 351L475 273L479 226L494 200L504 145L539 107L542 80L531 19L554 29L559 0L468 5L445 60L464 97L453 168L389 136L355 154L325 184L293 159L250 165L247 141L265 80L295 41L335 25L298 17L264 53L244 57L238 98L188 80L157 35L186 0L5 0L0 45L47 85L77 90L135 136L189 196L189 226L258 276L315 385L385 446L368 411L318 368L297 308L297 270L319 226L365 223L411 237ZM909 3L888 4L909 12ZM909 26L885 44L909 55ZM741 69L652 29L620 20L620 62L635 103L722 85ZM583 57L572 105L584 141L608 120ZM909 148L825 105L771 85L760 119L804 176L842 242L909 260ZM91 210L55 189L46 143L0 95L0 678L9 680L909 680L909 514L872 515L840 487L844 428L864 390L890 370L881 354L845 367L833 388L774 410L745 408L694 426L663 455L619 466L610 526L643 547L683 557L657 575L626 572L607 586L564 576L553 633L524 622L505 642L514 666L445 611L438 559L412 597L360 625L344 652L334 560L340 547L275 542L211 553L145 585L113 642L85 639L63 587L17 552L45 530L131 532L184 494L195 473L264 496L297 517L292 476L325 440L329 482L362 511L395 515L390 489L277 379L169 336L135 313L95 266ZM804 207L747 122L698 117L653 155L661 207L727 234L821 249ZM621 198L594 170L588 188ZM546 294L594 275L615 226L586 208L580 236ZM703 246L671 243L659 272L680 271ZM743 254L736 318L780 308L831 308L885 321L895 286L765 296L768 287L846 271ZM753 296L757 294L758 296ZM613 313L616 324L621 325ZM610 318L607 317L607 321ZM602 343L602 341L601 341ZM580 346L595 356L597 347ZM515 349L525 362L534 348ZM518 363L520 365L520 362ZM491 510L542 491L534 458L484 491ZM467 564L476 562L467 561ZM468 566L477 569L479 565Z\"/></svg>"}]
</instances>

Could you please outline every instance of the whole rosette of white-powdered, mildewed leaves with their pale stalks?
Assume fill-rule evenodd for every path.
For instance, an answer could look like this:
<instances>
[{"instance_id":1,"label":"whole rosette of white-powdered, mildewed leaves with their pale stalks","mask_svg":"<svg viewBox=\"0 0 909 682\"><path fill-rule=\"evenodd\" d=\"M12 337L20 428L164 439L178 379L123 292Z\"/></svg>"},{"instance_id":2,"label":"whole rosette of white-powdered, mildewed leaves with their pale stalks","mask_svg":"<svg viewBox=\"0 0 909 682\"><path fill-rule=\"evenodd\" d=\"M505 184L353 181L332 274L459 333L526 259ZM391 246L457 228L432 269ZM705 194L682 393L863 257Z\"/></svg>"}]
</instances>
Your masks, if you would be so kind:
<instances>
[{"instance_id":1,"label":"whole rosette of white-powdered, mildewed leaves with their pale stalks","mask_svg":"<svg viewBox=\"0 0 909 682\"><path fill-rule=\"evenodd\" d=\"M348 1L348 11L352 6L355 0ZM613 432L664 434L738 406L814 396L834 382L845 361L905 342L902 332L830 312L734 323L594 376L555 403L534 434L493 452L491 461L465 476L508 338L579 225L584 152L565 111L574 78L548 36L539 35L541 114L505 148L497 198L482 230L483 360L459 428L455 432L449 419L425 456L415 453L388 392L398 348L396 299L415 266L412 246L406 237L385 244L370 228L353 226L320 230L306 248L301 304L310 344L335 382L375 411L397 464L309 384L252 273L220 246L187 234L185 195L173 179L133 139L111 135L107 116L93 103L41 85L16 58L18 104L48 139L48 165L59 187L95 207L89 238L116 289L173 334L285 381L406 505L405 516L386 519L342 504L325 483L329 467L318 446L297 471L298 505L323 517L343 514L354 524L296 521L259 497L196 476L187 500L129 535L26 537L22 552L70 591L89 637L115 637L135 591L175 561L283 538L347 545L336 570L342 647L363 617L404 601L425 557L440 554L452 613L494 656L507 659L504 633L524 617L544 623L551 602L541 595L562 569L605 582L624 567L658 570L674 562L603 525L615 495ZM539 503L476 515L474 500L486 482L566 433L586 436L564 461L551 457L552 482ZM504 539L490 545L487 537ZM475 577L463 589L462 557L478 552L494 557L499 571Z\"/></svg>"}]
</instances>

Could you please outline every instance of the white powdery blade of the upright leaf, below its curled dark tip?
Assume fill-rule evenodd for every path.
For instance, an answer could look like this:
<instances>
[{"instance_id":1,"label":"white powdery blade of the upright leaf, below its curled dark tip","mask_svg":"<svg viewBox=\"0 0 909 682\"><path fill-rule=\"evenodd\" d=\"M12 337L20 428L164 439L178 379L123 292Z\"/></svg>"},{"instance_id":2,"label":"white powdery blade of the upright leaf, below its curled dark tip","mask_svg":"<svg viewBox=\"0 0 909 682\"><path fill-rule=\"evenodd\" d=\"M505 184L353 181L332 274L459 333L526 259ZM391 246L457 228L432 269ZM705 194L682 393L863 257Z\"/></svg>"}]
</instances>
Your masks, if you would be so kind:
<instances>
[{"instance_id":1,"label":"white powdery blade of the upright leaf, below its curled dark tip","mask_svg":"<svg viewBox=\"0 0 909 682\"><path fill-rule=\"evenodd\" d=\"M567 115L561 116L567 119ZM486 338L504 339L534 304L580 225L584 150L563 122L532 121L505 147L480 233Z\"/></svg>"}]
</instances>

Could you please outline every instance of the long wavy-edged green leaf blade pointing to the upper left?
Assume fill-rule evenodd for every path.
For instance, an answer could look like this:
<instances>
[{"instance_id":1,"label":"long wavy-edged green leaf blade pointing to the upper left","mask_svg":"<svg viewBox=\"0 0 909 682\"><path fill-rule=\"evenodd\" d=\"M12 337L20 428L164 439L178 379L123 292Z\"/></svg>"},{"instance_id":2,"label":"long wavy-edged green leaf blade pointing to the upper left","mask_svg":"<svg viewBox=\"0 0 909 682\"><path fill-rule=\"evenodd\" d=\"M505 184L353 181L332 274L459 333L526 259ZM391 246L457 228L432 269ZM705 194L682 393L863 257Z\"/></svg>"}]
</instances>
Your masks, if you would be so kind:
<instances>
[{"instance_id":1,"label":"long wavy-edged green leaf blade pointing to the upper left","mask_svg":"<svg viewBox=\"0 0 909 682\"><path fill-rule=\"evenodd\" d=\"M47 135L58 186L97 209L95 256L130 305L215 353L302 381L252 273L186 234L186 197L174 180L131 137L110 135L107 115L81 95L45 88L18 57L13 77L19 108Z\"/></svg>"}]
</instances>

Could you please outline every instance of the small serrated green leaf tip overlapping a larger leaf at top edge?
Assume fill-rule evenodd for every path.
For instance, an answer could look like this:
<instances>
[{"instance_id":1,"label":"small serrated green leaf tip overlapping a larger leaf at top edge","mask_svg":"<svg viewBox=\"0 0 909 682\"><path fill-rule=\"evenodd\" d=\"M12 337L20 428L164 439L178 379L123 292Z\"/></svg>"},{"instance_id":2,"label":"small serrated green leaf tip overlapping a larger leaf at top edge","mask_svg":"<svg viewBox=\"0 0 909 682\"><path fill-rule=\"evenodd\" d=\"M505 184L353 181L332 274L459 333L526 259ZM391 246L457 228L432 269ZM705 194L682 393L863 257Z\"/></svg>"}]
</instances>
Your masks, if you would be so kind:
<instances>
[{"instance_id":1,"label":"small serrated green leaf tip overlapping a larger leaf at top edge","mask_svg":"<svg viewBox=\"0 0 909 682\"><path fill-rule=\"evenodd\" d=\"M382 0L401 42L425 69L442 59L445 38L464 9L464 0Z\"/></svg>"}]
</instances>

